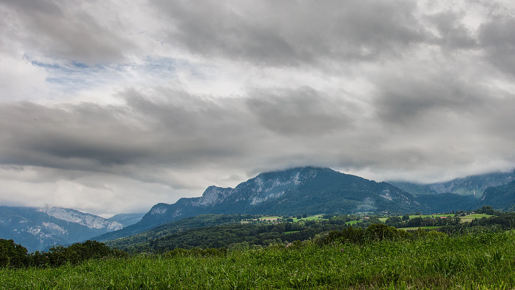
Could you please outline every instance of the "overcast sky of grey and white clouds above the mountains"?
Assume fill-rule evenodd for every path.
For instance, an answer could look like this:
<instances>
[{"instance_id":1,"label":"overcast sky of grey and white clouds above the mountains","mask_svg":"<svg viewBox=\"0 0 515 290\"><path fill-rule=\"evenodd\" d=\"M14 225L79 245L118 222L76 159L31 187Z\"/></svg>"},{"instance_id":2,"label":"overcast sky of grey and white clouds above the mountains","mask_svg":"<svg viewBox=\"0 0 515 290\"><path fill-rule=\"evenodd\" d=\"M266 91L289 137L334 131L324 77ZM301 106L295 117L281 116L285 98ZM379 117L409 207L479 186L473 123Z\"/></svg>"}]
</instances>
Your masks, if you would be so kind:
<instances>
[{"instance_id":1,"label":"overcast sky of grey and white clouds above the mountains","mask_svg":"<svg viewBox=\"0 0 515 290\"><path fill-rule=\"evenodd\" d=\"M0 204L515 167L513 1L0 0Z\"/></svg>"}]
</instances>

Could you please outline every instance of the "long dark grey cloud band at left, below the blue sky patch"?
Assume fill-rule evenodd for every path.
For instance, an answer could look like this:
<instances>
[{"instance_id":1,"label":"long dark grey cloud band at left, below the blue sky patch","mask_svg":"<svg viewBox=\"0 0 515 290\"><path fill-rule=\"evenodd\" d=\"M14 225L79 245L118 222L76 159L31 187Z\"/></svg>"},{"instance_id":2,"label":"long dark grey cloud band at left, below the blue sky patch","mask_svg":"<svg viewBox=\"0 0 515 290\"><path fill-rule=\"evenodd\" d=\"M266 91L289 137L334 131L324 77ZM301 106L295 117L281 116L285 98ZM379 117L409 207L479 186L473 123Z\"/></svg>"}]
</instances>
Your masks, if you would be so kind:
<instances>
[{"instance_id":1,"label":"long dark grey cloud band at left, below the blue sky patch","mask_svg":"<svg viewBox=\"0 0 515 290\"><path fill-rule=\"evenodd\" d=\"M241 153L245 139L225 142L245 128L241 108L169 93L174 102L128 91L126 106L4 105L2 163L112 171L129 164L193 166Z\"/></svg>"}]
</instances>

